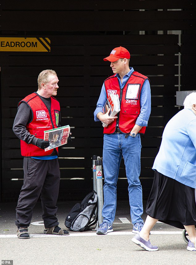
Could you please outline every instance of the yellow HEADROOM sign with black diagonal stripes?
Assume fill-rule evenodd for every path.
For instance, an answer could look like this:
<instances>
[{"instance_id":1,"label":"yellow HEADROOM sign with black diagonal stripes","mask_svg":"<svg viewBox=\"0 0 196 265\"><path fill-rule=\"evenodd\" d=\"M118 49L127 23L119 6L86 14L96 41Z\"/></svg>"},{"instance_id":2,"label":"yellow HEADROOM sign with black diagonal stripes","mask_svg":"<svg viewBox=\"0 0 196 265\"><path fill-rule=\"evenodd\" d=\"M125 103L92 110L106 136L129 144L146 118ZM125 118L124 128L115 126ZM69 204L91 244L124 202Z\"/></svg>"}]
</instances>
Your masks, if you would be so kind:
<instances>
[{"instance_id":1,"label":"yellow HEADROOM sign with black diagonal stripes","mask_svg":"<svg viewBox=\"0 0 196 265\"><path fill-rule=\"evenodd\" d=\"M50 39L0 37L0 52L50 52Z\"/></svg>"}]
</instances>

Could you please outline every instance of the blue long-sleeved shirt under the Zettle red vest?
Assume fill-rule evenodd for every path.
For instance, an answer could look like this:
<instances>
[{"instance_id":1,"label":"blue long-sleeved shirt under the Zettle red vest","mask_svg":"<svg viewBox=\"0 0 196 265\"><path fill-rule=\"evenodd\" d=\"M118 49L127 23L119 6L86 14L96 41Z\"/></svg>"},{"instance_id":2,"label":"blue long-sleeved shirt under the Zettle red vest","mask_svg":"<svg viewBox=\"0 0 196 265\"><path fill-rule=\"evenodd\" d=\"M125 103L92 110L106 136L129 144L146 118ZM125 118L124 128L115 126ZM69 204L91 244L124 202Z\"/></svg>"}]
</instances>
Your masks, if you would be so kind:
<instances>
[{"instance_id":1,"label":"blue long-sleeved shirt under the Zettle red vest","mask_svg":"<svg viewBox=\"0 0 196 265\"><path fill-rule=\"evenodd\" d=\"M130 71L123 77L123 81L121 84L121 79L119 74L116 74L119 84L121 84L121 88L125 86L126 82L128 81L131 73L134 72L134 69L130 67ZM97 118L97 113L103 112L103 106L107 100L107 95L105 91L105 85L102 85L100 97L97 101L97 107L94 112L94 120L95 122L99 122L100 120ZM140 94L140 114L136 120L136 124L139 126L147 126L148 119L150 117L151 113L151 91L150 91L150 83L148 80L146 80L143 84L143 88L141 90Z\"/></svg>"}]
</instances>

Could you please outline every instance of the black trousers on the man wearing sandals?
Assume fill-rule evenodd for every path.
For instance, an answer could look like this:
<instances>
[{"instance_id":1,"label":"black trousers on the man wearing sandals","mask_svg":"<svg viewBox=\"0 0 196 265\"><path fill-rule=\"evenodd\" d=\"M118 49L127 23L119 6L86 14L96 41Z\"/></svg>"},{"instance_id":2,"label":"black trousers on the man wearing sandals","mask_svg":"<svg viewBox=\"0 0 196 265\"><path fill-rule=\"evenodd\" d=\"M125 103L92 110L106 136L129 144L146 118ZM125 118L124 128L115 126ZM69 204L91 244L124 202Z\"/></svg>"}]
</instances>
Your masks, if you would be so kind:
<instances>
[{"instance_id":1,"label":"black trousers on the man wearing sandals","mask_svg":"<svg viewBox=\"0 0 196 265\"><path fill-rule=\"evenodd\" d=\"M33 208L40 194L45 227L58 226L56 217L60 184L58 159L40 160L24 157L23 171L24 183L16 207L16 226L28 227L30 225Z\"/></svg>"}]
</instances>

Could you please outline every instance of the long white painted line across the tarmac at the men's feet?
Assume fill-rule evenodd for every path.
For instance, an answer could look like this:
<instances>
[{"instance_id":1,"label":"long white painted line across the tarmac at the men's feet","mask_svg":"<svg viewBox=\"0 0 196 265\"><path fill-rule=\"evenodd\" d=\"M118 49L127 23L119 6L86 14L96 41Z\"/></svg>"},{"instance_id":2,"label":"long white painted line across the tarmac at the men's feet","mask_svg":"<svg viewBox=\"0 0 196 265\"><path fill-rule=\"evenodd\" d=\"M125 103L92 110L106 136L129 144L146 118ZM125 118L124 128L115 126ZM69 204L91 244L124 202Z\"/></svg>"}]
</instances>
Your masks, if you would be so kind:
<instances>
[{"instance_id":1,"label":"long white painted line across the tarmac at the men's feet","mask_svg":"<svg viewBox=\"0 0 196 265\"><path fill-rule=\"evenodd\" d=\"M161 235L161 234L182 234L182 231L151 231L151 235L156 234L156 235ZM112 236L112 235L135 235L132 232L109 232L108 234L104 236ZM78 236L100 236L97 235L96 233L81 233L81 232L71 232L70 235L67 235L66 237L78 237ZM46 237L65 237L61 235L45 235L45 234L30 234L30 237L32 238L46 238ZM17 238L17 235L0 235L0 238Z\"/></svg>"}]
</instances>

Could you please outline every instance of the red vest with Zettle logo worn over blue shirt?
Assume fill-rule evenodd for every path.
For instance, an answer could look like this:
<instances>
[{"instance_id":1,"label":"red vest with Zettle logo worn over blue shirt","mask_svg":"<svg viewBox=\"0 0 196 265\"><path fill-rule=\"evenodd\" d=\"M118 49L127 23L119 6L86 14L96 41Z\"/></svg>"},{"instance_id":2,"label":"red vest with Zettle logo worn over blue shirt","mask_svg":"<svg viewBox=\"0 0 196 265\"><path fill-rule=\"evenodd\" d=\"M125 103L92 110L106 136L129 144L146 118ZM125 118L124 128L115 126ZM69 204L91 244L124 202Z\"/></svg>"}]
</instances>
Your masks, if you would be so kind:
<instances>
[{"instance_id":1,"label":"red vest with Zettle logo worn over blue shirt","mask_svg":"<svg viewBox=\"0 0 196 265\"><path fill-rule=\"evenodd\" d=\"M118 78L115 75L104 81L107 98L110 93L118 94L121 106L118 118L104 127L104 134L114 133L117 122L122 133L130 133L140 114L140 93L146 79L148 77L134 71L123 89L120 88ZM139 133L144 134L145 130L146 127L143 126Z\"/></svg>"}]
</instances>

